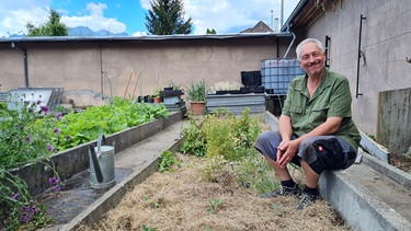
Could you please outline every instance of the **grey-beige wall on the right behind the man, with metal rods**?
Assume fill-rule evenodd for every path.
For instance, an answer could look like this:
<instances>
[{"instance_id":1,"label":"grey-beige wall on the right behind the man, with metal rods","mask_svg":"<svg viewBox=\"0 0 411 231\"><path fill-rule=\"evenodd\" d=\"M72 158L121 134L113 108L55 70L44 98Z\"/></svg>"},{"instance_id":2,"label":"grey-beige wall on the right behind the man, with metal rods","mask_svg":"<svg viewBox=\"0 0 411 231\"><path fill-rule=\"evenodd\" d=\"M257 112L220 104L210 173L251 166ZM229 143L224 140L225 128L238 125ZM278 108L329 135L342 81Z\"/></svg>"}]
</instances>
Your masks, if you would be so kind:
<instances>
[{"instance_id":1,"label":"grey-beige wall on the right behind the man, with metal rods","mask_svg":"<svg viewBox=\"0 0 411 231\"><path fill-rule=\"evenodd\" d=\"M318 5L322 8L323 5ZM356 99L359 16L363 20L358 92ZM376 135L378 93L411 86L411 4L409 1L336 0L307 28L307 37L331 37L332 70L351 82L353 117L365 132ZM304 37L299 37L301 39Z\"/></svg>"}]
</instances>

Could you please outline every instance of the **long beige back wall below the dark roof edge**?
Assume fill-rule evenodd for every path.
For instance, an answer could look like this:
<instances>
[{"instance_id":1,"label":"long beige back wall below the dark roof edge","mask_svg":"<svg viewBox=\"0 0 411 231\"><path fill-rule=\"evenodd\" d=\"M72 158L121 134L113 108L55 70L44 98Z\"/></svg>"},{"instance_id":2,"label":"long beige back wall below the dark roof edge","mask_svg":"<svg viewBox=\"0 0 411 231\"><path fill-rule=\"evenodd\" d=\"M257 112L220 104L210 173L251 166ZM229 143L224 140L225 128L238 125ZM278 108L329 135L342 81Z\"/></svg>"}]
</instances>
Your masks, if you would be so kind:
<instances>
[{"instance_id":1,"label":"long beige back wall below the dark roof edge","mask_svg":"<svg viewBox=\"0 0 411 231\"><path fill-rule=\"evenodd\" d=\"M109 96L148 95L170 82L205 80L210 90L239 89L241 71L260 70L261 60L283 57L292 37L15 43L26 48L31 88L64 88L65 102L99 105ZM278 45L278 48L277 48ZM2 91L24 88L21 50L0 43ZM294 49L289 53L293 56ZM295 57L295 55L294 55ZM133 74L128 90L126 86ZM110 84L111 83L111 84Z\"/></svg>"}]
</instances>

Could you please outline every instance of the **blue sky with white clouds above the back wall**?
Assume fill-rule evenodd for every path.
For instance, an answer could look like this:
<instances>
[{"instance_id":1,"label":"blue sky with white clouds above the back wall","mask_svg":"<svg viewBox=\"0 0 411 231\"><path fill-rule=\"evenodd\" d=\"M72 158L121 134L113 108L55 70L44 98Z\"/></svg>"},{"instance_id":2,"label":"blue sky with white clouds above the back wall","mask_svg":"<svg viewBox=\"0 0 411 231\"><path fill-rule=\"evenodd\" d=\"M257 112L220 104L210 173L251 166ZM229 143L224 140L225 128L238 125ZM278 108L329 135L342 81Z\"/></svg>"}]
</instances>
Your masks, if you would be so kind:
<instances>
[{"instance_id":1,"label":"blue sky with white clouds above the back wall","mask_svg":"<svg viewBox=\"0 0 411 231\"><path fill-rule=\"evenodd\" d=\"M88 26L128 35L146 34L145 13L151 0L0 0L0 37L26 33L27 22L48 20L49 7L69 27ZM215 28L217 34L239 33L259 21L271 26L281 18L281 0L183 0L185 19L193 20L193 34ZM284 22L299 0L284 0ZM271 11L273 10L273 13Z\"/></svg>"}]
</instances>

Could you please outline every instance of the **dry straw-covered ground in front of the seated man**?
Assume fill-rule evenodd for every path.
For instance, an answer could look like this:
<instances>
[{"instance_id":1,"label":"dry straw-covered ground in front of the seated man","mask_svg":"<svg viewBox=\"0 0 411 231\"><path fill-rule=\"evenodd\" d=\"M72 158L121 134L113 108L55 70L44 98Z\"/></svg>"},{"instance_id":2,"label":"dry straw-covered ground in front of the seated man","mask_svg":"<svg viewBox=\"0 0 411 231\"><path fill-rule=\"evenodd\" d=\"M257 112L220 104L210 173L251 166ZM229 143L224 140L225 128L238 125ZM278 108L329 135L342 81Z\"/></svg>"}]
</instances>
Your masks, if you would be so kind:
<instances>
[{"instance_id":1,"label":"dry straw-covered ground in front of the seated man","mask_svg":"<svg viewBox=\"0 0 411 231\"><path fill-rule=\"evenodd\" d=\"M326 200L295 210L295 197L260 198L230 170L204 181L206 159L178 159L175 171L153 173L100 222L79 230L351 230ZM294 177L304 185L299 171Z\"/></svg>"}]
</instances>

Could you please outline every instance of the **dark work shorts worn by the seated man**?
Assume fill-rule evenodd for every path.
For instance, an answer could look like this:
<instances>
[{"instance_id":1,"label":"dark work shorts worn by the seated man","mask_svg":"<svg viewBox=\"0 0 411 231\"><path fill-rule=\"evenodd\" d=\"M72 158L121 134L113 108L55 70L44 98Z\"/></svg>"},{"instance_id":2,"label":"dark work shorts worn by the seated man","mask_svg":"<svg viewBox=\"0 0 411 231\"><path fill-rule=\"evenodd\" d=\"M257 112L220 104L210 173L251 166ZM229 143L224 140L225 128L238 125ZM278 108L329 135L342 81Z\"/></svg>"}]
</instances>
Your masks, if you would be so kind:
<instances>
[{"instance_id":1,"label":"dark work shorts worn by the seated man","mask_svg":"<svg viewBox=\"0 0 411 231\"><path fill-rule=\"evenodd\" d=\"M292 139L296 139L293 136ZM276 161L277 147L282 138L278 131L264 131L255 140L254 148L262 154ZM299 145L297 154L290 161L296 165L305 160L318 174L324 170L342 170L351 166L356 158L356 151L336 136L310 137Z\"/></svg>"}]
</instances>

